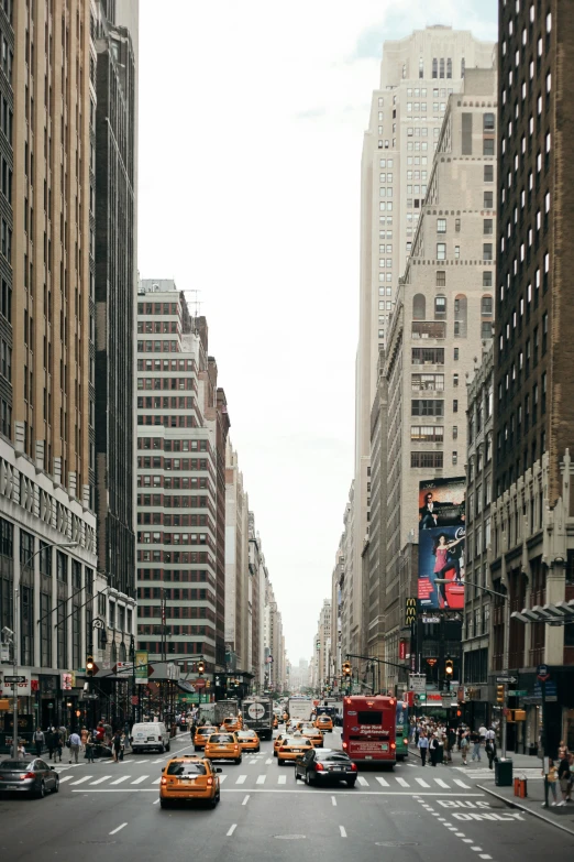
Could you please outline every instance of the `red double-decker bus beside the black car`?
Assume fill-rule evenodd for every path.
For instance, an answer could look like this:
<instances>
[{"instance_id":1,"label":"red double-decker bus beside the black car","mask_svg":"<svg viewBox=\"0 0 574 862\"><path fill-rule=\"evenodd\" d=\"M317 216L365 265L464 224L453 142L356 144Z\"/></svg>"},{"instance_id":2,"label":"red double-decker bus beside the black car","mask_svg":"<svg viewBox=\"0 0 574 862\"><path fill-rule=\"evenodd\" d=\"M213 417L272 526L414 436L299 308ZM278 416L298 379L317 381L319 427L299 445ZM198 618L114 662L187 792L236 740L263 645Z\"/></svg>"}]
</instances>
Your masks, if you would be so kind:
<instances>
[{"instance_id":1,"label":"red double-decker bus beside the black car","mask_svg":"<svg viewBox=\"0 0 574 862\"><path fill-rule=\"evenodd\" d=\"M397 762L397 700L394 697L343 698L343 751L356 763Z\"/></svg>"}]
</instances>

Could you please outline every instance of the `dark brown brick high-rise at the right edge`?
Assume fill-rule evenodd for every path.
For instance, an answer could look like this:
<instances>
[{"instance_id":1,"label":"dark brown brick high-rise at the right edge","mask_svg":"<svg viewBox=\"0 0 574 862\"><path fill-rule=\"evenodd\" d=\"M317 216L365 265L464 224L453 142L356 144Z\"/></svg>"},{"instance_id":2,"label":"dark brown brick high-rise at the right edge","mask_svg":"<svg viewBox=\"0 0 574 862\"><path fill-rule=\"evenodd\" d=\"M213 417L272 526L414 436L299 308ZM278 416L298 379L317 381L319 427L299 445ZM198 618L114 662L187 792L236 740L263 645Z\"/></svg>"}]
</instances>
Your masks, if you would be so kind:
<instances>
[{"instance_id":1,"label":"dark brown brick high-rise at the right edge","mask_svg":"<svg viewBox=\"0 0 574 862\"><path fill-rule=\"evenodd\" d=\"M556 609L574 598L574 20L559 0L503 1L499 29L490 575L507 599L493 600L489 681L503 668L520 673L528 695L506 705L526 710L526 722L508 727L509 745L521 749L536 743L540 730L537 665L551 667L556 699L545 707L545 753L554 755L564 733L572 734L573 626L529 620L540 619L533 608ZM528 613L510 617L522 609Z\"/></svg>"}]
</instances>

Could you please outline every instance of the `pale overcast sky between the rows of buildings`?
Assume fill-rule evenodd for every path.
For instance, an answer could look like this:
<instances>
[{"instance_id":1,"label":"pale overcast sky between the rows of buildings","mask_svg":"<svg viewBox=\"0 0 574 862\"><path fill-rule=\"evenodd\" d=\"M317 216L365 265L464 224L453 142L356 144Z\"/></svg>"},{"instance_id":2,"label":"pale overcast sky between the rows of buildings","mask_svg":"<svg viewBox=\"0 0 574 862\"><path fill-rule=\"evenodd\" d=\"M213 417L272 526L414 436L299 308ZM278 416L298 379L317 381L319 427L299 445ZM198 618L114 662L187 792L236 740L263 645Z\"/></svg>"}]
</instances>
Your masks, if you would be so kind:
<instances>
[{"instance_id":1,"label":"pale overcast sky between the rows of buildings","mask_svg":"<svg viewBox=\"0 0 574 862\"><path fill-rule=\"evenodd\" d=\"M353 476L363 131L428 24L494 40L497 2L141 0L140 272L200 292L294 663Z\"/></svg>"}]
</instances>

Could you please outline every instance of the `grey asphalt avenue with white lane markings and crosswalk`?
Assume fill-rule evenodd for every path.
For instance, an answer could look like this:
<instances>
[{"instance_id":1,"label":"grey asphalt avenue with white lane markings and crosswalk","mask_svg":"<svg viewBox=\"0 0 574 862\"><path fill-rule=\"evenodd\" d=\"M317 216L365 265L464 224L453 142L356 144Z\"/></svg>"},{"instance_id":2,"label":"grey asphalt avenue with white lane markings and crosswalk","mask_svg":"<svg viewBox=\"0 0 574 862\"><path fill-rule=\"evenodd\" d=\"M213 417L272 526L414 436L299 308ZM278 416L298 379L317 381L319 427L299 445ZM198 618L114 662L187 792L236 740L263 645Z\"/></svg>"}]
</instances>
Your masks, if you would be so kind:
<instances>
[{"instance_id":1,"label":"grey asphalt avenue with white lane markings and crosswalk","mask_svg":"<svg viewBox=\"0 0 574 862\"><path fill-rule=\"evenodd\" d=\"M340 734L325 744L340 746ZM223 768L214 810L162 810L162 764L192 752L187 734L172 754L123 763L58 764L59 794L0 800L0 859L9 862L539 862L574 841L564 832L507 808L477 784L485 767L422 767L418 759L394 772L362 771L356 787L307 787L290 765L278 766L269 742Z\"/></svg>"}]
</instances>

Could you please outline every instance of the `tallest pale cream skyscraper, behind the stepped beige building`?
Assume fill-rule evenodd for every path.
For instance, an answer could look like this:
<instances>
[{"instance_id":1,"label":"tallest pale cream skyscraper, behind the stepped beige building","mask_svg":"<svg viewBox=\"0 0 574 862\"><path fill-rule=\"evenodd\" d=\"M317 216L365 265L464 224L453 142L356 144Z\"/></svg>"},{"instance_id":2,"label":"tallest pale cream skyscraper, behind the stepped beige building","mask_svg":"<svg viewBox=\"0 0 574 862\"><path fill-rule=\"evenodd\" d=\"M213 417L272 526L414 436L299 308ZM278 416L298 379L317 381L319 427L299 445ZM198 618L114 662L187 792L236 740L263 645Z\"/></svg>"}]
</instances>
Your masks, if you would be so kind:
<instances>
[{"instance_id":1,"label":"tallest pale cream skyscraper, behind the stepped beige building","mask_svg":"<svg viewBox=\"0 0 574 862\"><path fill-rule=\"evenodd\" d=\"M379 350L399 276L410 254L430 179L449 96L463 84L465 69L493 66L492 43L467 31L430 26L386 42L380 84L373 92L361 164L360 332L355 382L355 463L353 495L353 576L351 652L366 631L362 619L362 554L368 532L371 410L377 390Z\"/></svg>"}]
</instances>

